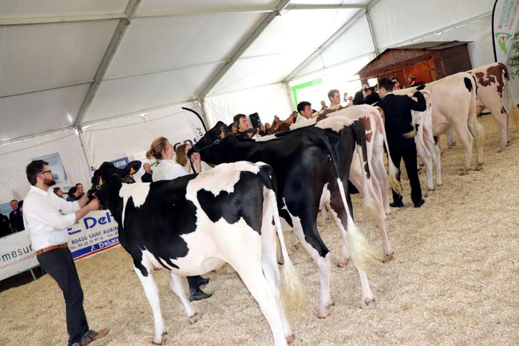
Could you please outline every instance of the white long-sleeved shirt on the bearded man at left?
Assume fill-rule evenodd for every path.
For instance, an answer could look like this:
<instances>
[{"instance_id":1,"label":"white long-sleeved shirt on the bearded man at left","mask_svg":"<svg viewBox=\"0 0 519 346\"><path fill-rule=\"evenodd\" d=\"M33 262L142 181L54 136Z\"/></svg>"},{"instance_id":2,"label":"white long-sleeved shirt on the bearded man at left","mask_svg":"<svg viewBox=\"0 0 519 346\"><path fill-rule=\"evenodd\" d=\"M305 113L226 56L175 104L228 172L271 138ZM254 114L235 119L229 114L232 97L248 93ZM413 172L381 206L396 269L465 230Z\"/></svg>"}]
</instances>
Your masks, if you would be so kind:
<instances>
[{"instance_id":1,"label":"white long-sleeved shirt on the bearded man at left","mask_svg":"<svg viewBox=\"0 0 519 346\"><path fill-rule=\"evenodd\" d=\"M51 188L47 192L31 186L24 199L25 231L31 237L33 250L60 245L67 242L67 227L76 222L78 201L65 201L54 194Z\"/></svg>"}]
</instances>

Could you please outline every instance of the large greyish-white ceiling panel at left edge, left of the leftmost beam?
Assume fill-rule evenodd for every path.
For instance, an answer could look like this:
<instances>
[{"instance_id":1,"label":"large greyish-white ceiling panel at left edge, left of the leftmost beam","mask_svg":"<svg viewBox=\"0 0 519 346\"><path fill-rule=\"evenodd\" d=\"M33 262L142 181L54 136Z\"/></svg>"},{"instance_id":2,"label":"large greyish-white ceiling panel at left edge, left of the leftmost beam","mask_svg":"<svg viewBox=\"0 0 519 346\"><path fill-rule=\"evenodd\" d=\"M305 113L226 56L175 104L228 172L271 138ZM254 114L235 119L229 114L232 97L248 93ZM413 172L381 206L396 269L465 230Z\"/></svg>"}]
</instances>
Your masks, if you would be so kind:
<instances>
[{"instance_id":1,"label":"large greyish-white ceiling panel at left edge, left of the leftmost beam","mask_svg":"<svg viewBox=\"0 0 519 346\"><path fill-rule=\"evenodd\" d=\"M0 27L0 96L91 81L116 20Z\"/></svg>"}]
</instances>

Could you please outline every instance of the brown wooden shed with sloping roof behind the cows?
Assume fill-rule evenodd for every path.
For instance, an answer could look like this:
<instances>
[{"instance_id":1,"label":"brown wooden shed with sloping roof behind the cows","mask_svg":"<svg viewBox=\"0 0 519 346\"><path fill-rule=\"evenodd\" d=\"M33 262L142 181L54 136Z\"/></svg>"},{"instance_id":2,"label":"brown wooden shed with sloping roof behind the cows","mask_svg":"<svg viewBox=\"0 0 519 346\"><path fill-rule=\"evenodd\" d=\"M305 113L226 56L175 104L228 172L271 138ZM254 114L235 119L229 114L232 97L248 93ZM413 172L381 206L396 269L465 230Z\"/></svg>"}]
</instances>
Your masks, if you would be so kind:
<instances>
[{"instance_id":1,"label":"brown wooden shed with sloping roof behind the cows","mask_svg":"<svg viewBox=\"0 0 519 346\"><path fill-rule=\"evenodd\" d=\"M388 48L359 72L363 84L372 78L397 78L402 86L413 76L425 83L472 69L468 55L470 42L420 42Z\"/></svg>"}]
</instances>

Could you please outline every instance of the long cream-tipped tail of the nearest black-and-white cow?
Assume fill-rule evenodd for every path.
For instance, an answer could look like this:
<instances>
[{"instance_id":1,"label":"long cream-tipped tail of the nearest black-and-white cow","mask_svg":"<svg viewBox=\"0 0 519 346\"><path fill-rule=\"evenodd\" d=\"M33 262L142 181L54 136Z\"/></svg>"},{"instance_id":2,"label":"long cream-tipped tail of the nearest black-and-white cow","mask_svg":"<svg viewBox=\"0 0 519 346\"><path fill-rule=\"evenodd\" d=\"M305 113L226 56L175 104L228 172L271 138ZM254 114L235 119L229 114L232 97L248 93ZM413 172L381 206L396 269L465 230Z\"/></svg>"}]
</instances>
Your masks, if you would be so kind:
<instances>
[{"instance_id":1,"label":"long cream-tipped tail of the nearest black-and-white cow","mask_svg":"<svg viewBox=\"0 0 519 346\"><path fill-rule=\"evenodd\" d=\"M306 309L306 295L304 286L299 280L297 271L290 261L288 251L286 249L285 238L283 238L283 230L281 229L281 220L279 220L279 211L276 200L276 179L272 173L272 167L265 163L256 163L261 165L258 174L263 178L265 183L264 197L267 205L267 213L274 218L274 226L276 227L279 244L281 245L281 255L283 256L283 269L281 270L281 304L285 306L287 313L297 313ZM267 220L272 222L272 220ZM263 236L263 235L262 235ZM275 240L267 240L275 246Z\"/></svg>"}]
</instances>

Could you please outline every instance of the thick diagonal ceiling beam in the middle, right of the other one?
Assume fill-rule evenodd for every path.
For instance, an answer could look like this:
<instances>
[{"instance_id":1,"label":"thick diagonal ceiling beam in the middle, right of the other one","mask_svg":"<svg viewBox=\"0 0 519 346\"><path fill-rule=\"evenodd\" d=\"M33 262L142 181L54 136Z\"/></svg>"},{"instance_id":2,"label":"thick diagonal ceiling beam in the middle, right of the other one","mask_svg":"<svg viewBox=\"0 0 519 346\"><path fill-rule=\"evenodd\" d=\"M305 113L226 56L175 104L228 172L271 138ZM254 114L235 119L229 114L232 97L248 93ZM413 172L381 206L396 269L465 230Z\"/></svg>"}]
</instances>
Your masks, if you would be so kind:
<instances>
[{"instance_id":1,"label":"thick diagonal ceiling beam in the middle, right of the other one","mask_svg":"<svg viewBox=\"0 0 519 346\"><path fill-rule=\"evenodd\" d=\"M220 68L220 70L218 70L218 72L216 72L215 76L213 76L211 81L204 87L204 89L202 89L202 91L200 92L199 97L198 97L199 99L204 99L207 96L208 92L211 91L211 89L216 85L216 83L218 83L218 81L220 81L222 76L224 76L224 74L227 71L229 71L229 69L234 65L234 63L236 63L236 60L238 60L238 58L240 58L242 53L252 44L252 42L254 42L254 40L256 40L256 38L258 38L259 35L261 35L261 33L267 27L267 25L270 22L272 22L272 19L274 19L277 15L279 15L281 13L281 11L284 8L286 8L289 1L290 0L279 1L279 3L276 6L276 9L274 11L272 11L271 13L269 13L267 15L267 17L265 17L265 19L263 19L263 21L261 21L261 23L258 26L256 26L256 28L249 35L247 40L245 40L245 42L240 44L240 47L238 47L238 49L236 49L236 51L234 51L233 56L231 57L231 60L229 60L227 63L225 63L225 65L223 65L222 68Z\"/></svg>"}]
</instances>

